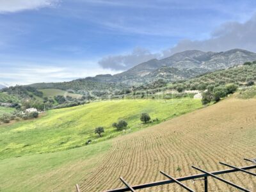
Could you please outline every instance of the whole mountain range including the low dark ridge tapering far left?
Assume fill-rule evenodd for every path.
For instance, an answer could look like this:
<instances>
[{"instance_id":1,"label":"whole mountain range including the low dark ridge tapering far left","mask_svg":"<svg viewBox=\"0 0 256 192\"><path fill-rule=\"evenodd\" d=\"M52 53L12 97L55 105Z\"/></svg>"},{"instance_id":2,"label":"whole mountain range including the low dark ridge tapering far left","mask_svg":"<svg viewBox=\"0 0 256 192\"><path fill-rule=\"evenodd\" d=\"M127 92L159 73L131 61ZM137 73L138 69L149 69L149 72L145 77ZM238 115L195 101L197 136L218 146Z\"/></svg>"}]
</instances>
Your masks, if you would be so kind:
<instances>
[{"instance_id":1,"label":"whole mountain range including the low dark ridge tapering far left","mask_svg":"<svg viewBox=\"0 0 256 192\"><path fill-rule=\"evenodd\" d=\"M59 88L61 90L92 90L124 88L126 85L150 83L157 79L168 82L191 79L207 72L242 65L246 61L255 61L256 53L243 49L225 52L204 52L189 50L177 52L162 60L149 60L140 63L120 74L104 74L86 77L63 83L32 84L35 88Z\"/></svg>"}]
</instances>

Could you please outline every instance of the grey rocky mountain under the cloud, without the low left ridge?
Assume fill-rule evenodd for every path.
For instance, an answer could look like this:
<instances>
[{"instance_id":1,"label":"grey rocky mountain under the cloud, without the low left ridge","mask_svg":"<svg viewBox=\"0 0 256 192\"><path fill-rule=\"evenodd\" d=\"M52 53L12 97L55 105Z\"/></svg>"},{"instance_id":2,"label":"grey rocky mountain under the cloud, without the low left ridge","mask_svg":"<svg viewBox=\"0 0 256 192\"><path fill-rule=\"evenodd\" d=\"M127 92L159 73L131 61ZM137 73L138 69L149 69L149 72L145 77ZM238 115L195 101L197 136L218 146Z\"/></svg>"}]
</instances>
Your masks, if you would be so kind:
<instances>
[{"instance_id":1,"label":"grey rocky mountain under the cloud, without the low left ridge","mask_svg":"<svg viewBox=\"0 0 256 192\"><path fill-rule=\"evenodd\" d=\"M232 49L225 52L189 50L178 52L162 60L154 59L140 63L125 72L113 76L108 74L87 77L86 79L126 84L145 83L160 78L167 81L177 81L255 60L256 53L243 49Z\"/></svg>"}]
</instances>

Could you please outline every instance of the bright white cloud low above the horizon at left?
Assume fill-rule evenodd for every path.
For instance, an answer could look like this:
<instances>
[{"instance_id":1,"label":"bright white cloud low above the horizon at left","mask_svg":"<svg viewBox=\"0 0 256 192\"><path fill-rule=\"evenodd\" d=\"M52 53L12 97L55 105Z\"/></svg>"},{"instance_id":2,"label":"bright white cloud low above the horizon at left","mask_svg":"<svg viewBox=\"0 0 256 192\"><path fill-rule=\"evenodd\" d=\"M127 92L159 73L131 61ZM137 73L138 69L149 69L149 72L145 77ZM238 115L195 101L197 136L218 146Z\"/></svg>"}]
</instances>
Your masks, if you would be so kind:
<instances>
[{"instance_id":1,"label":"bright white cloud low above the horizon at left","mask_svg":"<svg viewBox=\"0 0 256 192\"><path fill-rule=\"evenodd\" d=\"M61 65L60 65L61 63ZM84 66L87 67L84 67ZM92 67L88 67L88 65ZM98 74L114 74L113 70L97 66L95 61L51 61L49 65L43 63L0 63L0 84L14 86L16 84L49 83L72 81L74 79L93 77ZM61 66L61 67L58 67ZM76 67L72 67L76 66Z\"/></svg>"}]
</instances>

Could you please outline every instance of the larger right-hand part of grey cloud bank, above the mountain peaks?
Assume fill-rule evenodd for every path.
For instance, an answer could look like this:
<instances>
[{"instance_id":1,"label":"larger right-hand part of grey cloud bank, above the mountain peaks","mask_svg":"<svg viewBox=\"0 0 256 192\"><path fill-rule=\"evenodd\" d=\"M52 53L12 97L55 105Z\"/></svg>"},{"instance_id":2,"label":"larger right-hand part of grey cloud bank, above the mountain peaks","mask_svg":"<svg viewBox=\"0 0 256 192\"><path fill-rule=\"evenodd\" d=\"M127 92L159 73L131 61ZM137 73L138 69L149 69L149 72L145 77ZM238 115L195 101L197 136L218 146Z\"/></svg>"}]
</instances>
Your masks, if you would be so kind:
<instances>
[{"instance_id":1,"label":"larger right-hand part of grey cloud bank, above the mountain peaks","mask_svg":"<svg viewBox=\"0 0 256 192\"><path fill-rule=\"evenodd\" d=\"M214 31L207 40L182 40L175 47L164 51L164 56L188 49L201 51L227 51L229 49L246 49L256 52L256 15L244 23L225 22Z\"/></svg>"}]
</instances>

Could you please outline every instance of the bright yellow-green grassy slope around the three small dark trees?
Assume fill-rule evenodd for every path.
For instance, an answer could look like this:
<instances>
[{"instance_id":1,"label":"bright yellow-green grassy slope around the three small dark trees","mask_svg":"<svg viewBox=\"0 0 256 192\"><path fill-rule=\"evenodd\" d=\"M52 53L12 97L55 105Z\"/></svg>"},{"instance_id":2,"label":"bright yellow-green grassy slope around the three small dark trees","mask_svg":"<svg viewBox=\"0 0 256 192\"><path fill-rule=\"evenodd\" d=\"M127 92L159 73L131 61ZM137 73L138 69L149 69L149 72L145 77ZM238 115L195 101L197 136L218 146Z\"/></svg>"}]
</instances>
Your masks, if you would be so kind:
<instances>
[{"instance_id":1,"label":"bright yellow-green grassy slope around the three small dark trees","mask_svg":"<svg viewBox=\"0 0 256 192\"><path fill-rule=\"evenodd\" d=\"M114 100L95 102L74 108L55 109L38 120L0 127L0 159L81 147L90 140L106 140L122 132L111 127L118 118L127 120L132 131L148 125L140 114L149 113L161 121L201 108L200 100ZM104 126L102 138L94 134Z\"/></svg>"}]
</instances>

